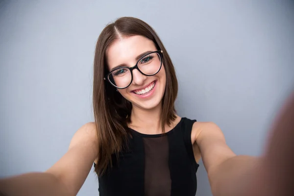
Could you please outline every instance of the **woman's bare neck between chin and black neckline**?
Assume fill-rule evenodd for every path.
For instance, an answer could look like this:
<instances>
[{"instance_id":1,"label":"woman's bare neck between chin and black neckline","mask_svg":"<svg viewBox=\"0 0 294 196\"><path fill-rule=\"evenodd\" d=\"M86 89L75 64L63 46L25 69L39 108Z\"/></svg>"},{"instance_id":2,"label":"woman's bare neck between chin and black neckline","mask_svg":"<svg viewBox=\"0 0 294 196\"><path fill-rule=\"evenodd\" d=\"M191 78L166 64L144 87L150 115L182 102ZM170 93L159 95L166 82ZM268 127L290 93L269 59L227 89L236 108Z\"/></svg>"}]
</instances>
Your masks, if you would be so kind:
<instances>
[{"instance_id":1,"label":"woman's bare neck between chin and black neckline","mask_svg":"<svg viewBox=\"0 0 294 196\"><path fill-rule=\"evenodd\" d=\"M150 110L144 110L133 105L131 124L129 124L129 126L139 132L145 132L147 134L161 133L161 112L161 104Z\"/></svg>"}]
</instances>

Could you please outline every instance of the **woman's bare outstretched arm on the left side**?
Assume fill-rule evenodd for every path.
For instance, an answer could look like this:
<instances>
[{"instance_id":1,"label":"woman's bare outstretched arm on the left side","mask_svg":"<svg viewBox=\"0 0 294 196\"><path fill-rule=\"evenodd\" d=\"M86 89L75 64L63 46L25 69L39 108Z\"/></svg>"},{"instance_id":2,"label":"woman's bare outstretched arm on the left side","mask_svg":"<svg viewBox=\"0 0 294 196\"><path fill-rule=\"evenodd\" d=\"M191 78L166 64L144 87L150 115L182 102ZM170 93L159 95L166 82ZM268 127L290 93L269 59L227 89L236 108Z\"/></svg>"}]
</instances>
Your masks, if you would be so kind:
<instances>
[{"instance_id":1,"label":"woman's bare outstretched arm on the left side","mask_svg":"<svg viewBox=\"0 0 294 196\"><path fill-rule=\"evenodd\" d=\"M97 157L96 127L83 125L73 136L68 152L46 172L31 172L0 180L7 196L75 196Z\"/></svg>"}]
</instances>

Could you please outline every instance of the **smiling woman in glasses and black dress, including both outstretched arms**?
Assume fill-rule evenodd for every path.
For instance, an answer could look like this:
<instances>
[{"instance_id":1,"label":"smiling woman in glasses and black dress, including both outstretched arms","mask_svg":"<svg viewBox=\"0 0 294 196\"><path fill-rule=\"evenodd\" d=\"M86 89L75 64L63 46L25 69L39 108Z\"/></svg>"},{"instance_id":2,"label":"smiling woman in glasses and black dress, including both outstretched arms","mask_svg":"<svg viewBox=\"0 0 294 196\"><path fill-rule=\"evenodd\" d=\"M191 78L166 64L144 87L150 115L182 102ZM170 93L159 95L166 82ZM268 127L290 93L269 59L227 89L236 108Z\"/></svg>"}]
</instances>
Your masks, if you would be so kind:
<instances>
[{"instance_id":1,"label":"smiling woman in glasses and black dress, including both outstretched arms","mask_svg":"<svg viewBox=\"0 0 294 196\"><path fill-rule=\"evenodd\" d=\"M274 166L277 159L284 169L293 163L287 153L293 149L293 109L283 113L274 132L281 140L272 139L264 157L237 156L216 124L179 117L176 95L172 61L154 30L136 18L118 19L103 29L96 47L95 123L75 133L48 171L2 179L0 190L74 196L94 163L100 196L195 196L202 157L215 196L290 193L289 173Z\"/></svg>"}]
</instances>

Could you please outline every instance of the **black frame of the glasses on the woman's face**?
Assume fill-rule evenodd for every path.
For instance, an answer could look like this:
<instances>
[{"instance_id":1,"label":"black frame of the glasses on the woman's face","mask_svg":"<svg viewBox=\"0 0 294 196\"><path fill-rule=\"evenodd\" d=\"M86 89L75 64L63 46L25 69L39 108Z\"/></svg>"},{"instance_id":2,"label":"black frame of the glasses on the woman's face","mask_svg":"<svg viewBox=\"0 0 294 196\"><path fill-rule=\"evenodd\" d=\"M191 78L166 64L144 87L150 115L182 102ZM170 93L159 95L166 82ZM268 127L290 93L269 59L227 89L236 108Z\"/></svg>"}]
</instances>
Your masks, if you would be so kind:
<instances>
[{"instance_id":1,"label":"black frame of the glasses on the woman's face","mask_svg":"<svg viewBox=\"0 0 294 196\"><path fill-rule=\"evenodd\" d=\"M152 54L152 53L157 53L157 54L159 54L159 56L160 56L160 67L159 67L158 71L157 71L156 73L152 74L152 75L157 74L157 73L161 70L161 66L162 66L162 53L163 53L162 50L157 50L157 51L153 51L153 52L150 52L150 53L145 54L144 56L142 56L142 57L137 61L136 65L133 66L133 67L119 67L119 68L116 68L116 69L112 70L111 72L107 73L103 79L104 79L104 80L107 79L107 81L108 81L112 86L114 86L114 87L117 88L117 89L125 89L125 88L129 87L129 86L131 85L132 81L133 81L133 70L134 70L134 69L137 69L137 70L138 70L140 73L142 73L143 75L146 75L146 76L152 76L152 75L148 75L148 74L145 74L145 73L141 72L141 70L138 68L138 63L139 63L139 61L142 60L143 58L145 58L147 55ZM127 69L129 69L129 71L131 72L131 81L130 81L130 83L129 83L126 87L123 87L123 88L115 86L115 85L112 84L112 82L109 80L109 75L110 75L111 73L113 73L113 72L116 71L116 70L122 69L122 68L127 68Z\"/></svg>"}]
</instances>

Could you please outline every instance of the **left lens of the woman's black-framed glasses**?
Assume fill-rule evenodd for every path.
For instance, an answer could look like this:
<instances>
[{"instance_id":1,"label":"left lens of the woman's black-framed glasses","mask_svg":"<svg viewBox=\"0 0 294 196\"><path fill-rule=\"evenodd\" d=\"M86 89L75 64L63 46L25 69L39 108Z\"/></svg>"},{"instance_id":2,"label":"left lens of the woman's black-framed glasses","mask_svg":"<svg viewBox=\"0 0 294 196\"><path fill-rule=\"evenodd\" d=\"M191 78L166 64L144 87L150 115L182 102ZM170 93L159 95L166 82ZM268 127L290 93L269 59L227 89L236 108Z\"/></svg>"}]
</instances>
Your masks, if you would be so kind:
<instances>
[{"instance_id":1,"label":"left lens of the woman's black-framed glasses","mask_svg":"<svg viewBox=\"0 0 294 196\"><path fill-rule=\"evenodd\" d=\"M118 88L125 88L131 83L132 75L129 69L120 68L112 71L108 75L108 79L114 86Z\"/></svg>"}]
</instances>

